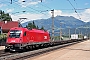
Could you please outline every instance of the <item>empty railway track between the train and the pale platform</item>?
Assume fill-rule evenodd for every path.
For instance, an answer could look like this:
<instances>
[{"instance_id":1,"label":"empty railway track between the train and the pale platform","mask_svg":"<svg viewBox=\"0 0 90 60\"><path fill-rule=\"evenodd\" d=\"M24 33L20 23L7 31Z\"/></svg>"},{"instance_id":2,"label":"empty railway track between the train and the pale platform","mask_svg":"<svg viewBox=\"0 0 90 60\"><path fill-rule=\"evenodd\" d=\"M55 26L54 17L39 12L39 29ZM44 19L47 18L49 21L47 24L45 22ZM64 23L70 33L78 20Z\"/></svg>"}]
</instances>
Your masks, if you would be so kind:
<instances>
[{"instance_id":1,"label":"empty railway track between the train and the pale platform","mask_svg":"<svg viewBox=\"0 0 90 60\"><path fill-rule=\"evenodd\" d=\"M28 51L28 52L23 52L23 53L2 55L0 56L0 60L24 60L30 57L40 55L42 53L53 51L61 47L69 46L69 45L76 44L79 42L67 43L67 44L57 45L54 47L48 47L48 48L43 48L43 49L38 49L38 50L33 50L33 51Z\"/></svg>"}]
</instances>

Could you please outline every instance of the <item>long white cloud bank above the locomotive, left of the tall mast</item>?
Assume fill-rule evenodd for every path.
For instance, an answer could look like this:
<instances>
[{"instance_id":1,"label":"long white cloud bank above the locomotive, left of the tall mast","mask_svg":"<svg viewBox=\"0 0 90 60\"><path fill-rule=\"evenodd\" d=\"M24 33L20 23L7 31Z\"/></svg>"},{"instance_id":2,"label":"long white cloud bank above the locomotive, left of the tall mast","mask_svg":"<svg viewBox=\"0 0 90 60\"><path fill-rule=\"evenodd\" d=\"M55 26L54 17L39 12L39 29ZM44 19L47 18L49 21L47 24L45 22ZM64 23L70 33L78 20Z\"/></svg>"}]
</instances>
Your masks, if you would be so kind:
<instances>
[{"instance_id":1,"label":"long white cloud bank above the locomotive, left of the tall mast","mask_svg":"<svg viewBox=\"0 0 90 60\"><path fill-rule=\"evenodd\" d=\"M25 13L25 14L19 14L19 15L11 15L13 21L20 20L19 18L27 18L23 20L21 23L36 20L36 19L43 19L45 15L43 14L32 14L32 13ZM46 18L46 17L45 17Z\"/></svg>"}]
</instances>

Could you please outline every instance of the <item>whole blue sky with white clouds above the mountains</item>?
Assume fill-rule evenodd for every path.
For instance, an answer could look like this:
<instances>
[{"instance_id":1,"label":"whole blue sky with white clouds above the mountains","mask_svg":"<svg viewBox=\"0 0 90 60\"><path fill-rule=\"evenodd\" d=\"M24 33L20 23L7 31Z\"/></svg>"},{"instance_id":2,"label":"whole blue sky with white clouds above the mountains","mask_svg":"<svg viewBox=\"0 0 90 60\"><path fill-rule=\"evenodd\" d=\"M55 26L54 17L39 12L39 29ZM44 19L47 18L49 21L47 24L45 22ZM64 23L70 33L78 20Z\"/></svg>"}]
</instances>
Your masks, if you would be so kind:
<instances>
[{"instance_id":1,"label":"whole blue sky with white clouds above the mountains","mask_svg":"<svg viewBox=\"0 0 90 60\"><path fill-rule=\"evenodd\" d=\"M9 13L13 21L21 23L48 19L53 9L54 17L73 16L90 22L90 0L0 0L0 10Z\"/></svg>"}]
</instances>

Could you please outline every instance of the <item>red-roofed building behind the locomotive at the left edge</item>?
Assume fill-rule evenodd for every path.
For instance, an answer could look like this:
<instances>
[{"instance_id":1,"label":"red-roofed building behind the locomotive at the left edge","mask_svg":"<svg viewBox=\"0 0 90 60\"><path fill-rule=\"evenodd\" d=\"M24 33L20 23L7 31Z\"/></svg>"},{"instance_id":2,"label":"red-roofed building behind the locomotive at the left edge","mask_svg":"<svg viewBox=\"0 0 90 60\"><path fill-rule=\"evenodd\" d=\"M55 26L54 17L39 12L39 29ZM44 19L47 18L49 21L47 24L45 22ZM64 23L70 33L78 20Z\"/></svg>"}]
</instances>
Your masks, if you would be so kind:
<instances>
[{"instance_id":1,"label":"red-roofed building behind the locomotive at the left edge","mask_svg":"<svg viewBox=\"0 0 90 60\"><path fill-rule=\"evenodd\" d=\"M0 21L0 33L8 33L11 28L20 26L18 21Z\"/></svg>"}]
</instances>

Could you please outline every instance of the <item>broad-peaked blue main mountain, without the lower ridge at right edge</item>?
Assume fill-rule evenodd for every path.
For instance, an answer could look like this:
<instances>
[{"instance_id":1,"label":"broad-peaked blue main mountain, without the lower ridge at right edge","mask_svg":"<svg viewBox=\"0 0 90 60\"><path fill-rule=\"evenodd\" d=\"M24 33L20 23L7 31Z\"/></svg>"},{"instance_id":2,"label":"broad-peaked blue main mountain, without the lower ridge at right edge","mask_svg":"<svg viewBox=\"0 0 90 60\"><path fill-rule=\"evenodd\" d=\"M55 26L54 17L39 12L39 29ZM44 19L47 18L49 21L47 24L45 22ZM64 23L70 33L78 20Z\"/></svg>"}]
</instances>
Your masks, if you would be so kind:
<instances>
[{"instance_id":1,"label":"broad-peaked blue main mountain, without the lower ridge at right edge","mask_svg":"<svg viewBox=\"0 0 90 60\"><path fill-rule=\"evenodd\" d=\"M32 22L32 21L29 21ZM44 26L46 29L50 29L52 27L52 18L48 19L39 19L34 20L35 24L39 27ZM23 23L22 25L25 27L28 22ZM60 24L62 28L77 28L85 24L85 22L76 19L72 16L56 16L54 17L54 28L60 28Z\"/></svg>"}]
</instances>

